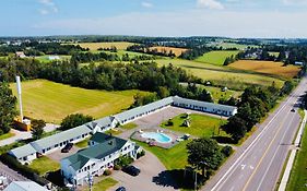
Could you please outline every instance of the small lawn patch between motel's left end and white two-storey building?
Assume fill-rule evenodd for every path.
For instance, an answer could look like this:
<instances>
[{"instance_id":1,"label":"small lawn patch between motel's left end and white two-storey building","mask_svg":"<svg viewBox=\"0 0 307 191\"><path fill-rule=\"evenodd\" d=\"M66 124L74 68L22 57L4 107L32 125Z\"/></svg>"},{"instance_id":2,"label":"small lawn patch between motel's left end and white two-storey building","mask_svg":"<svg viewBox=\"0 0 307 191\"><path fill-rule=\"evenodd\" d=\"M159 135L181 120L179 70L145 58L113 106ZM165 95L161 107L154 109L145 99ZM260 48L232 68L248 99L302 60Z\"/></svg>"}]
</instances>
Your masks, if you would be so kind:
<instances>
[{"instance_id":1,"label":"small lawn patch between motel's left end and white two-storey building","mask_svg":"<svg viewBox=\"0 0 307 191\"><path fill-rule=\"evenodd\" d=\"M43 176L48 171L57 171L58 169L60 169L60 164L48 158L47 156L43 156L33 160L29 167L37 170L39 175Z\"/></svg>"}]
</instances>

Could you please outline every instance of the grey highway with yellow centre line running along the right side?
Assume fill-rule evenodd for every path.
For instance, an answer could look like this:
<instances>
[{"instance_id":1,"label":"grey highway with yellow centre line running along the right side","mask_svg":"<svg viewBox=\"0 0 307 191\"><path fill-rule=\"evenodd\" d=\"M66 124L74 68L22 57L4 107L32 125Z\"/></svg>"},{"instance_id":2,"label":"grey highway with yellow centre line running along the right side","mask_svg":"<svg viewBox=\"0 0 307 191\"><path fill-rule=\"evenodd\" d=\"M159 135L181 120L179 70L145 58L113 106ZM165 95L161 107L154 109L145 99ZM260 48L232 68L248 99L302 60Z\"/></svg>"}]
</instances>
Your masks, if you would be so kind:
<instances>
[{"instance_id":1,"label":"grey highway with yellow centre line running along the right side","mask_svg":"<svg viewBox=\"0 0 307 191\"><path fill-rule=\"evenodd\" d=\"M240 146L234 156L206 183L212 191L271 191L299 127L297 100L307 91L304 77L297 88ZM291 111L295 107L295 112Z\"/></svg>"}]
</instances>

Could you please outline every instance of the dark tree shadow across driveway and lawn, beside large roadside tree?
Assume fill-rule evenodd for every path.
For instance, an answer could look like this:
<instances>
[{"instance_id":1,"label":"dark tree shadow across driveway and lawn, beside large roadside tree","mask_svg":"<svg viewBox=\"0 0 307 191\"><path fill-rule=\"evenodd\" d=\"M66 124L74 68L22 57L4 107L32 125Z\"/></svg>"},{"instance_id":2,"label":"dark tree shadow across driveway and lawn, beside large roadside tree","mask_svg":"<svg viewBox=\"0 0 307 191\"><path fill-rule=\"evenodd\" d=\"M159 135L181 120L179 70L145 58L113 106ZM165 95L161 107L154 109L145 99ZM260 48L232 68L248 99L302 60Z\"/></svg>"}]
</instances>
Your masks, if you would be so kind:
<instances>
[{"instance_id":1,"label":"dark tree shadow across driveway and lawn, beside large roadside tree","mask_svg":"<svg viewBox=\"0 0 307 191\"><path fill-rule=\"evenodd\" d=\"M153 177L153 182L162 187L170 187L174 189L193 190L194 174L184 169L165 170ZM204 179L198 174L198 184L202 186Z\"/></svg>"}]
</instances>

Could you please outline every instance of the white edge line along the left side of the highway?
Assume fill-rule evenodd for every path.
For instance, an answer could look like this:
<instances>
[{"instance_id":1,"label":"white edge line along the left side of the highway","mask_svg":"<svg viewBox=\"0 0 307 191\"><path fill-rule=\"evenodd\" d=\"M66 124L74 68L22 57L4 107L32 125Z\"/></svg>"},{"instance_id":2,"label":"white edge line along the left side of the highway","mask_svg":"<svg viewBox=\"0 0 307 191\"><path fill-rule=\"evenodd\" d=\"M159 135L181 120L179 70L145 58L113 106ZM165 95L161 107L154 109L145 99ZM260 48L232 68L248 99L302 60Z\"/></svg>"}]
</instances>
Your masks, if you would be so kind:
<instances>
[{"instance_id":1,"label":"white edge line along the left side of the highway","mask_svg":"<svg viewBox=\"0 0 307 191\"><path fill-rule=\"evenodd\" d=\"M255 146L255 143L264 134L264 132L268 131L268 127L272 123L272 121L279 116L279 114L287 106L287 104L290 104L290 100L293 97L294 94L296 94L297 92L299 92L300 88L296 88L293 93L290 94L290 96L286 98L286 100L284 102L284 105L279 109L279 111L271 118L271 120L267 123L267 126L264 126L262 128L262 131L258 134L258 136L256 136L256 139L249 144L249 146L243 152L243 154L236 159L236 162L228 168L228 170L220 178L220 180L215 183L215 186L212 188L212 191L214 190L219 190L220 187L222 187L225 181L229 178L227 177L228 174L233 170L233 168L235 168L235 166L237 166L237 164L240 162L240 159L243 157L246 157L246 154L249 152L249 150L251 147ZM226 179L225 179L226 178ZM225 179L225 180L224 180ZM224 181L224 182L222 182ZM222 183L221 183L222 182Z\"/></svg>"}]
</instances>

